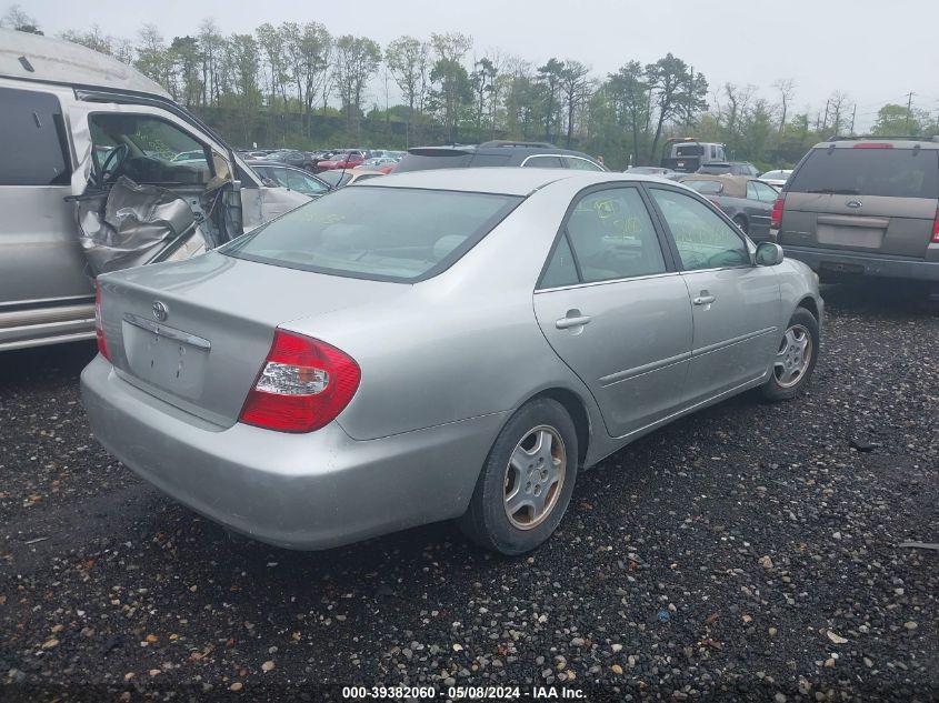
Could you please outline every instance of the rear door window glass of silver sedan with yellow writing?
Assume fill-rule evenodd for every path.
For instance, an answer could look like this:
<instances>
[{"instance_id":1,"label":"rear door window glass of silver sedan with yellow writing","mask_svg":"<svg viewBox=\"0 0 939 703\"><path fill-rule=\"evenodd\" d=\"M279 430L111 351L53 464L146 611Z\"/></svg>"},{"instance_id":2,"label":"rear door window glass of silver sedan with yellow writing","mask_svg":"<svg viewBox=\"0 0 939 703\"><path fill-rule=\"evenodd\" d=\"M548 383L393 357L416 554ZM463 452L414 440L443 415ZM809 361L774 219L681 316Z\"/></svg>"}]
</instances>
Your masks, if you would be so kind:
<instances>
[{"instance_id":1,"label":"rear door window glass of silver sedan with yellow writing","mask_svg":"<svg viewBox=\"0 0 939 703\"><path fill-rule=\"evenodd\" d=\"M571 211L567 234L586 283L666 271L659 238L636 188L581 198Z\"/></svg>"}]
</instances>

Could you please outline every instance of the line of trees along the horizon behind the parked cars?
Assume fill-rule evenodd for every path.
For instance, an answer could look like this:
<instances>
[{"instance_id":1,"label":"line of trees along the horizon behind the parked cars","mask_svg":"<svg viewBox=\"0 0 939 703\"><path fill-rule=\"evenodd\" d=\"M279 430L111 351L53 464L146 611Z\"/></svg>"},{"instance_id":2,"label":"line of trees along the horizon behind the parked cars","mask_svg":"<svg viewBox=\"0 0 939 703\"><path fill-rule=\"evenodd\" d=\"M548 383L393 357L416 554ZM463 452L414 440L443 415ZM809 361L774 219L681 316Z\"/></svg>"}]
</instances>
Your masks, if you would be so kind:
<instances>
[{"instance_id":1,"label":"line of trees along the horizon behind the parked cars","mask_svg":"<svg viewBox=\"0 0 939 703\"><path fill-rule=\"evenodd\" d=\"M42 33L19 6L2 21ZM669 137L727 145L758 167L791 165L817 141L855 129L857 106L833 91L825 108L797 110L796 84L772 98L753 86L711 87L671 53L627 61L597 76L575 58L538 66L501 50L480 56L460 32L401 36L381 47L333 36L319 22L264 22L252 33L222 32L206 19L167 41L153 24L133 39L98 26L60 38L133 66L238 145L403 148L489 139L548 141L602 155L613 168L657 163ZM872 133L939 132L911 104L880 108Z\"/></svg>"}]
</instances>

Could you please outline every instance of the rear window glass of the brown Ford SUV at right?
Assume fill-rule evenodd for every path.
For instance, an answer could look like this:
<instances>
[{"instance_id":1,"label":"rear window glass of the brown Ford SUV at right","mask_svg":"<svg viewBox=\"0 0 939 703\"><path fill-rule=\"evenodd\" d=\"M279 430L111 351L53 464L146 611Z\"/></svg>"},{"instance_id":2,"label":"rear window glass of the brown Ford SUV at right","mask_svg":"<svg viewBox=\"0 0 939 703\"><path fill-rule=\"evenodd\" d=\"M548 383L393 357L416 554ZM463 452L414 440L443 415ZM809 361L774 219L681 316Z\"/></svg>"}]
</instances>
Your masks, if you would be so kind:
<instances>
[{"instance_id":1,"label":"rear window glass of the brown Ford SUV at right","mask_svg":"<svg viewBox=\"0 0 939 703\"><path fill-rule=\"evenodd\" d=\"M812 149L786 184L789 192L939 198L932 149Z\"/></svg>"}]
</instances>

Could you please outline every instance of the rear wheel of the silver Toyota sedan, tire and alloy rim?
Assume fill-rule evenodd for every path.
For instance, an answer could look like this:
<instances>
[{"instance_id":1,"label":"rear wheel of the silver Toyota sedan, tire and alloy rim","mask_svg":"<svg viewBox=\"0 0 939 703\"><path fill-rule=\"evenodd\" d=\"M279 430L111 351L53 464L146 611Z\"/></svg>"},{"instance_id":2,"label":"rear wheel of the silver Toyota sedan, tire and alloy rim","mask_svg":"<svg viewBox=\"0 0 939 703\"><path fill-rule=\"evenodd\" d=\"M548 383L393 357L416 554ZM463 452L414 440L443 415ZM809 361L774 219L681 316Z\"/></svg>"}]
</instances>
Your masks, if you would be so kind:
<instances>
[{"instance_id":1,"label":"rear wheel of the silver Toyota sedan, tire and alloy rim","mask_svg":"<svg viewBox=\"0 0 939 703\"><path fill-rule=\"evenodd\" d=\"M563 405L547 398L522 405L496 438L460 529L500 554L530 552L563 518L577 479L577 431Z\"/></svg>"}]
</instances>

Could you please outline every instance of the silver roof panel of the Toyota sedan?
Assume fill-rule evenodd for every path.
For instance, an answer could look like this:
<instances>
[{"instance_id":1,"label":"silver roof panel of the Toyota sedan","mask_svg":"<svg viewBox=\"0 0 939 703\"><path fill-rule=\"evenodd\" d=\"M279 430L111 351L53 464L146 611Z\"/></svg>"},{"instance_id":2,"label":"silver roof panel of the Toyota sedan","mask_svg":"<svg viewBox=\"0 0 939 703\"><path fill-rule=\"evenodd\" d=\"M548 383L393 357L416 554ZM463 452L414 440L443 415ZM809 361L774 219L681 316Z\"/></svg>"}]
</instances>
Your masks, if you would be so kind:
<instances>
[{"instance_id":1,"label":"silver roof panel of the Toyota sedan","mask_svg":"<svg viewBox=\"0 0 939 703\"><path fill-rule=\"evenodd\" d=\"M502 195L528 195L550 183L573 180L587 188L595 183L612 181L656 182L675 185L675 181L648 174L616 173L612 171L580 171L573 169L532 168L469 168L426 169L394 173L373 179L369 184L381 188L420 188L426 190L457 190Z\"/></svg>"}]
</instances>

